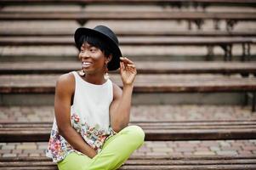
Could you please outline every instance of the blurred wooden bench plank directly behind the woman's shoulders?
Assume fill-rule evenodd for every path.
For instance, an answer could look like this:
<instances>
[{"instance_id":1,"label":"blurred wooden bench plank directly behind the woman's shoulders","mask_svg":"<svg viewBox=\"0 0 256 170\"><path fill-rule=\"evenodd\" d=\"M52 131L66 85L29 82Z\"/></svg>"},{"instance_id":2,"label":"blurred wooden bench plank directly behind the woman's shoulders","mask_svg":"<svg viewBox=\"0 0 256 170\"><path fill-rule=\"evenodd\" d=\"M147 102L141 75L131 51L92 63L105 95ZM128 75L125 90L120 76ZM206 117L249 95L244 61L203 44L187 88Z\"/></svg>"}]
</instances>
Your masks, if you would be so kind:
<instances>
[{"instance_id":1,"label":"blurred wooden bench plank directly behind the woman's shoulders","mask_svg":"<svg viewBox=\"0 0 256 170\"><path fill-rule=\"evenodd\" d=\"M55 82L59 76L60 75L0 75L0 93L54 94ZM119 75L111 75L111 80L122 87L122 81ZM255 78L162 74L138 75L134 82L134 93L247 91L256 91Z\"/></svg>"}]
</instances>

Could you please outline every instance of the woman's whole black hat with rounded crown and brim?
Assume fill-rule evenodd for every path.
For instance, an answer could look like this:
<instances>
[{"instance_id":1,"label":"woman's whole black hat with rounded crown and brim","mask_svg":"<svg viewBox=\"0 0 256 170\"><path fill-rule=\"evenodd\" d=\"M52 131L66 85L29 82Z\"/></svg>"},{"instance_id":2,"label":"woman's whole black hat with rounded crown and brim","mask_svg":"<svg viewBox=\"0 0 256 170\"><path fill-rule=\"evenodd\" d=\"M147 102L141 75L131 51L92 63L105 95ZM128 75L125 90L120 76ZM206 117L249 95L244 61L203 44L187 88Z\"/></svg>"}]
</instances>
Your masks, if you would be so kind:
<instances>
[{"instance_id":1,"label":"woman's whole black hat with rounded crown and brim","mask_svg":"<svg viewBox=\"0 0 256 170\"><path fill-rule=\"evenodd\" d=\"M98 36L103 38L103 40L105 40L108 43L108 45L110 45L111 54L112 54L112 59L107 65L108 70L115 71L120 67L119 62L120 62L120 57L122 57L122 53L120 48L118 47L117 36L113 31L111 31L110 28L106 26L96 26L94 27L94 29L84 28L84 27L77 28L77 31L75 31L74 38L75 38L76 46L79 50L81 48L81 47L78 47L79 38L83 35L85 36L93 35L93 36Z\"/></svg>"}]
</instances>

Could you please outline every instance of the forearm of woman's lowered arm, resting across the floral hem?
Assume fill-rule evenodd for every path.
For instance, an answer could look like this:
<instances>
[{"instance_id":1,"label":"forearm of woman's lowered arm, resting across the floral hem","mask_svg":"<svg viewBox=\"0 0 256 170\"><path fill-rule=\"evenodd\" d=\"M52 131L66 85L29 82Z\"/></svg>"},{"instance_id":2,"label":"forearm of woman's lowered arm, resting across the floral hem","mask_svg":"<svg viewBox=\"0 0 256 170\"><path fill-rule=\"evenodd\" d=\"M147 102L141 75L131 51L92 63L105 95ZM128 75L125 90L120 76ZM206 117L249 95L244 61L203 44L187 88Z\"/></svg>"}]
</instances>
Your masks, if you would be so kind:
<instances>
[{"instance_id":1,"label":"forearm of woman's lowered arm, resting across the floral hem","mask_svg":"<svg viewBox=\"0 0 256 170\"><path fill-rule=\"evenodd\" d=\"M90 158L96 156L96 151L82 139L82 136L77 133L73 127L65 127L62 130L59 129L59 131L60 135L63 136L75 150L82 152Z\"/></svg>"}]
</instances>

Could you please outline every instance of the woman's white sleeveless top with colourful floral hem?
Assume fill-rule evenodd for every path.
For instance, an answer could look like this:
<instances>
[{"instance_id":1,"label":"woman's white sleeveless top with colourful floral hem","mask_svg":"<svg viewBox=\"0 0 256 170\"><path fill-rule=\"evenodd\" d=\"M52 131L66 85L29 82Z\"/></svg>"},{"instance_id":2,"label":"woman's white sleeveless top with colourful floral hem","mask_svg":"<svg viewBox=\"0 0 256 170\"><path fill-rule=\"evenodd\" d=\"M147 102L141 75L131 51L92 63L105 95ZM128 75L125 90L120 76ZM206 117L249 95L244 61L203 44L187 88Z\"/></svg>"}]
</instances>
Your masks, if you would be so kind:
<instances>
[{"instance_id":1,"label":"woman's white sleeveless top with colourful floral hem","mask_svg":"<svg viewBox=\"0 0 256 170\"><path fill-rule=\"evenodd\" d=\"M102 85L86 82L72 71L76 88L71 105L71 126L80 133L96 152L100 152L105 139L115 134L110 124L109 109L113 100L113 86L110 79ZM69 153L76 151L60 135L54 118L46 156L54 162L61 161ZM82 154L82 153L80 153Z\"/></svg>"}]
</instances>

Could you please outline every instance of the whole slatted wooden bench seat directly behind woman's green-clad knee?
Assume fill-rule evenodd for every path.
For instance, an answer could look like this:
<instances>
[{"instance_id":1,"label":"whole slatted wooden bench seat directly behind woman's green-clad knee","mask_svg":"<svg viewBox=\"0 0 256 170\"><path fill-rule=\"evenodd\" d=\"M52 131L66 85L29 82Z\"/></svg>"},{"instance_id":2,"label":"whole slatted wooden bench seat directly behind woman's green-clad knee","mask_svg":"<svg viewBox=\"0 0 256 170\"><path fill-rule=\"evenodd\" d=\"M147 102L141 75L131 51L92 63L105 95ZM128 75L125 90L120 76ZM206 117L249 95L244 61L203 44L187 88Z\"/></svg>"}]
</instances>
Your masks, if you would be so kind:
<instances>
[{"instance_id":1,"label":"whole slatted wooden bench seat directly behind woman's green-clad knee","mask_svg":"<svg viewBox=\"0 0 256 170\"><path fill-rule=\"evenodd\" d=\"M145 140L256 139L256 120L131 122L145 131ZM52 122L2 122L0 142L46 142Z\"/></svg>"}]
</instances>

